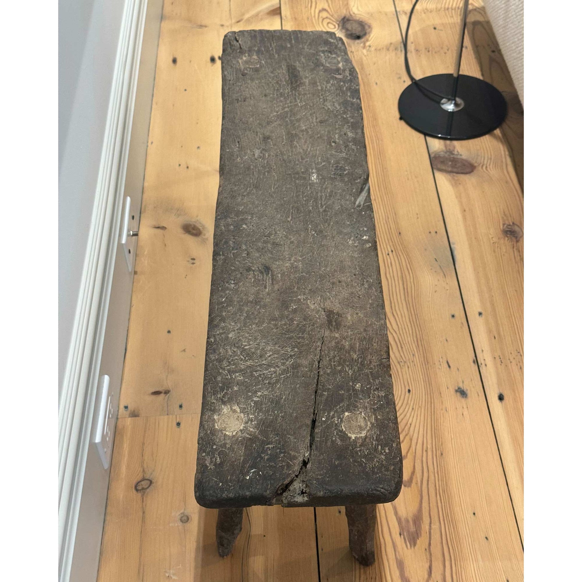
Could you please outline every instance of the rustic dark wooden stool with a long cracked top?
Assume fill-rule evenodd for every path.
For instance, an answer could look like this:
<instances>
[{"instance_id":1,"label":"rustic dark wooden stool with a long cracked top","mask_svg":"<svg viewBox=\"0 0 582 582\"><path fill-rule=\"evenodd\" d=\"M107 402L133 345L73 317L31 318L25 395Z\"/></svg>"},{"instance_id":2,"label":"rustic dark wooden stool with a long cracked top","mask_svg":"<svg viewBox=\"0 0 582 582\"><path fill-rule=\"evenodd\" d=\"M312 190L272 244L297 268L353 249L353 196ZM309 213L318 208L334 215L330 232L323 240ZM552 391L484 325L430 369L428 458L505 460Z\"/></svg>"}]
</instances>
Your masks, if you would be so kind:
<instances>
[{"instance_id":1,"label":"rustic dark wooden stool with a long cracked top","mask_svg":"<svg viewBox=\"0 0 582 582\"><path fill-rule=\"evenodd\" d=\"M220 555L243 508L346 506L374 562L402 485L356 70L333 33L226 34L195 494Z\"/></svg>"}]
</instances>

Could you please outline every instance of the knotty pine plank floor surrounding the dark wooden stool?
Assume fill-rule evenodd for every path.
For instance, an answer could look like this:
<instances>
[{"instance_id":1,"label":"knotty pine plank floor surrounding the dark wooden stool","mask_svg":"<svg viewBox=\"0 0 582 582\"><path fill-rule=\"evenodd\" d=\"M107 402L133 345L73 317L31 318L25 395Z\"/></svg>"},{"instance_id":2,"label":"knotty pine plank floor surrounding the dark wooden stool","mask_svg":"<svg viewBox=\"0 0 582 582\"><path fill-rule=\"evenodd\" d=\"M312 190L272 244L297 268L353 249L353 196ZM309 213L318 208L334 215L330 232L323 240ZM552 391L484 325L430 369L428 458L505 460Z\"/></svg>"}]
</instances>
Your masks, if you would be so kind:
<instances>
[{"instance_id":1,"label":"knotty pine plank floor surrounding the dark wooden stool","mask_svg":"<svg viewBox=\"0 0 582 582\"><path fill-rule=\"evenodd\" d=\"M471 3L462 72L504 91L508 121L457 143L399 121L410 6L165 0L100 582L523 580L523 112ZM418 5L416 76L451 68L459 15L455 0ZM363 38L349 38L350 19ZM370 568L350 556L343 508L251 508L221 559L215 512L193 495L222 37L281 26L340 34L360 76L404 456Z\"/></svg>"}]
</instances>

